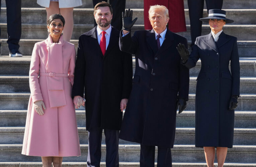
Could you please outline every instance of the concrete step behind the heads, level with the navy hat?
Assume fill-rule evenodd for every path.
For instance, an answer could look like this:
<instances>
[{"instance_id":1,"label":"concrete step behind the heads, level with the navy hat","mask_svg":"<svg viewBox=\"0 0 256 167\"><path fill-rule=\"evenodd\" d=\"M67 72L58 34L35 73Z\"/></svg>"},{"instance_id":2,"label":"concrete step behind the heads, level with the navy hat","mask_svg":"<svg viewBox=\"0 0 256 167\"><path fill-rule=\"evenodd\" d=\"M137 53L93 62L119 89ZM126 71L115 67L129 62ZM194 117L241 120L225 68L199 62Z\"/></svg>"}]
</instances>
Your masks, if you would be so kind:
<instances>
[{"instance_id":1,"label":"concrete step behind the heads, level with the navy hat","mask_svg":"<svg viewBox=\"0 0 256 167\"><path fill-rule=\"evenodd\" d=\"M144 9L132 9L133 17L137 17L136 24L144 24ZM227 18L234 20L232 24L256 24L253 17L256 9L223 9L227 12ZM186 24L190 24L188 9L184 10ZM246 17L244 17L246 15ZM6 23L6 8L1 8L0 23ZM45 8L21 8L22 23L46 24ZM203 10L203 17L207 17L207 10ZM84 19L86 17L86 19ZM93 24L93 8L75 8L73 11L74 24ZM203 22L203 24L208 24Z\"/></svg>"}]
</instances>

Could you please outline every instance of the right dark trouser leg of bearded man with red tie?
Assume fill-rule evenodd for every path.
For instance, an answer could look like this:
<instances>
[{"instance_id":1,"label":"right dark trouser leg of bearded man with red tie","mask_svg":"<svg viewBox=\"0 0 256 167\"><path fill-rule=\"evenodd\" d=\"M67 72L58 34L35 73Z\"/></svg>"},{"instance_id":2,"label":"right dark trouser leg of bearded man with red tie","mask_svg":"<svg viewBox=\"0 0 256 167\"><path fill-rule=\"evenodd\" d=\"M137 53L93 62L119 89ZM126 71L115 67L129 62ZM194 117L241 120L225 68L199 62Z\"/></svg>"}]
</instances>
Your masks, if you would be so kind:
<instances>
[{"instance_id":1,"label":"right dark trouser leg of bearded man with red tie","mask_svg":"<svg viewBox=\"0 0 256 167\"><path fill-rule=\"evenodd\" d=\"M106 142L106 167L119 167L119 131L104 129Z\"/></svg>"}]
</instances>

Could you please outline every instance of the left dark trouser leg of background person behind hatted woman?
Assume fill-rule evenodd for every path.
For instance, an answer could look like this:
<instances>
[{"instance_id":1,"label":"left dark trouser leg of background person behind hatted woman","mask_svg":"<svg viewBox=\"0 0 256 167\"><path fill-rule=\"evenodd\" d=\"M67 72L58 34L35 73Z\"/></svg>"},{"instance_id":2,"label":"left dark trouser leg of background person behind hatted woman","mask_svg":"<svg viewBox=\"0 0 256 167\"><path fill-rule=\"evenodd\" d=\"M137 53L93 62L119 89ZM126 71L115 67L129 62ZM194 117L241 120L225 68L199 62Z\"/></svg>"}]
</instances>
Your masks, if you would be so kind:
<instances>
[{"instance_id":1,"label":"left dark trouser leg of background person behind hatted woman","mask_svg":"<svg viewBox=\"0 0 256 167\"><path fill-rule=\"evenodd\" d=\"M202 21L199 19L203 17L203 2L204 0L187 0L188 13L190 20L190 34L191 34L191 47L195 43L195 39L201 36Z\"/></svg>"}]
</instances>

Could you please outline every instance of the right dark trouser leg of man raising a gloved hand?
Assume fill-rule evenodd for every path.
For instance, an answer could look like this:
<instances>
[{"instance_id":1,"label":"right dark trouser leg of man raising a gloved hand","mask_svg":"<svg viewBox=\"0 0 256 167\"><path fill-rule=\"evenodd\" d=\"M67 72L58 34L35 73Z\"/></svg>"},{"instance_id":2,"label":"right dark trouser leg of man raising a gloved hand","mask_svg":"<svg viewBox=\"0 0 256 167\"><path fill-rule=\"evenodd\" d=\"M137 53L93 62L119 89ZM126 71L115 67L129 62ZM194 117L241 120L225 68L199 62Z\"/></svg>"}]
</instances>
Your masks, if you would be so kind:
<instances>
[{"instance_id":1,"label":"right dark trouser leg of man raising a gloved hand","mask_svg":"<svg viewBox=\"0 0 256 167\"><path fill-rule=\"evenodd\" d=\"M172 167L171 149L167 147L158 147L157 167Z\"/></svg>"}]
</instances>

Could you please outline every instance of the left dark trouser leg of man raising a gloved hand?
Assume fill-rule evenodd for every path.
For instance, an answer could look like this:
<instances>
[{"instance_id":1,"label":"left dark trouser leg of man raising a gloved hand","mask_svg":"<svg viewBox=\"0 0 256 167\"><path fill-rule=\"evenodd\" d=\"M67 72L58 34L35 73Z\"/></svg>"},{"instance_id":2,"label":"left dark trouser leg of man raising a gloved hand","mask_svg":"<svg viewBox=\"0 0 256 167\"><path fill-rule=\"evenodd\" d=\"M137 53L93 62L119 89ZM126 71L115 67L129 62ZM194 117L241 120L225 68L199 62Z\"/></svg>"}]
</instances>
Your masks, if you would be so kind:
<instances>
[{"instance_id":1,"label":"left dark trouser leg of man raising a gloved hand","mask_svg":"<svg viewBox=\"0 0 256 167\"><path fill-rule=\"evenodd\" d=\"M140 167L155 166L155 146L141 144Z\"/></svg>"}]
</instances>

